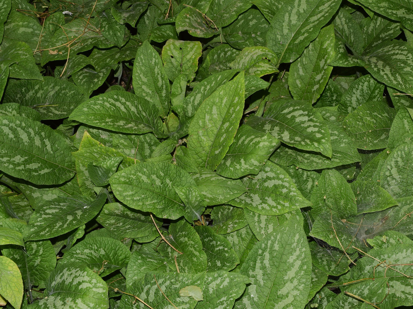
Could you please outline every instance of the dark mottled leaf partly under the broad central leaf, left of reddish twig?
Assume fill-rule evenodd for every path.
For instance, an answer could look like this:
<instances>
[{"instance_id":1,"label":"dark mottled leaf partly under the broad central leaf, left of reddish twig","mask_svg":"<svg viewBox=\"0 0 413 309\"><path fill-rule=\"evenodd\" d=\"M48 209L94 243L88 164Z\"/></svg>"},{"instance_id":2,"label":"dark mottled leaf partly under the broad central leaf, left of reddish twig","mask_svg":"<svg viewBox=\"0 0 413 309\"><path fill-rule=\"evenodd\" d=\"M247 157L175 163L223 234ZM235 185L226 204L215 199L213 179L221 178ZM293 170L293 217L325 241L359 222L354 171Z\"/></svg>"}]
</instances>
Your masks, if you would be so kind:
<instances>
[{"instance_id":1,"label":"dark mottled leaf partly under the broad central leaf, left of reddish twig","mask_svg":"<svg viewBox=\"0 0 413 309\"><path fill-rule=\"evenodd\" d=\"M117 234L126 238L150 237L155 238L158 232L149 215L119 203L105 204L97 222ZM160 221L157 225L162 225Z\"/></svg>"}]
</instances>

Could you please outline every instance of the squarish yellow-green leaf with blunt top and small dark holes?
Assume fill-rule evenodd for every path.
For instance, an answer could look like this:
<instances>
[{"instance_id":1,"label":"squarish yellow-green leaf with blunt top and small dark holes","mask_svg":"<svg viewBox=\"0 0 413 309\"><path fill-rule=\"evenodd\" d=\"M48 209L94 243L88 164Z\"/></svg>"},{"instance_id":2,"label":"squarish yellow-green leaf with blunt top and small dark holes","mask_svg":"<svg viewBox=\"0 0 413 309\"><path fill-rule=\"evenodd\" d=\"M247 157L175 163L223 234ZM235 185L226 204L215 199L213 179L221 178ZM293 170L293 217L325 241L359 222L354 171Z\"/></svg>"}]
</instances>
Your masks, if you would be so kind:
<instances>
[{"instance_id":1,"label":"squarish yellow-green leaf with blunt top and small dark holes","mask_svg":"<svg viewBox=\"0 0 413 309\"><path fill-rule=\"evenodd\" d=\"M162 48L162 62L165 74L173 82L181 73L187 73L191 80L198 69L198 59L202 56L201 42L168 40Z\"/></svg>"}]
</instances>

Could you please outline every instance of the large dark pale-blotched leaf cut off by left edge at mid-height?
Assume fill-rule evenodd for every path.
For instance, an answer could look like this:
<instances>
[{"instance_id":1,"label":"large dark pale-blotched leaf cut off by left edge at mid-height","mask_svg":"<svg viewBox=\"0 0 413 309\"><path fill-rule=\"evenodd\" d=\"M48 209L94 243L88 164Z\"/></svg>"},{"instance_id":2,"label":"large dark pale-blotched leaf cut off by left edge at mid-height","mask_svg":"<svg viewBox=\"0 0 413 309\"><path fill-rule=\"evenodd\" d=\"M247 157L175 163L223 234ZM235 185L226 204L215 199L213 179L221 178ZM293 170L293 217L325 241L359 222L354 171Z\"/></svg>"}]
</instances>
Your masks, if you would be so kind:
<instances>
[{"instance_id":1,"label":"large dark pale-blotched leaf cut off by left edge at mid-height","mask_svg":"<svg viewBox=\"0 0 413 309\"><path fill-rule=\"evenodd\" d=\"M0 116L0 169L37 185L63 183L74 175L66 140L24 117Z\"/></svg>"}]
</instances>

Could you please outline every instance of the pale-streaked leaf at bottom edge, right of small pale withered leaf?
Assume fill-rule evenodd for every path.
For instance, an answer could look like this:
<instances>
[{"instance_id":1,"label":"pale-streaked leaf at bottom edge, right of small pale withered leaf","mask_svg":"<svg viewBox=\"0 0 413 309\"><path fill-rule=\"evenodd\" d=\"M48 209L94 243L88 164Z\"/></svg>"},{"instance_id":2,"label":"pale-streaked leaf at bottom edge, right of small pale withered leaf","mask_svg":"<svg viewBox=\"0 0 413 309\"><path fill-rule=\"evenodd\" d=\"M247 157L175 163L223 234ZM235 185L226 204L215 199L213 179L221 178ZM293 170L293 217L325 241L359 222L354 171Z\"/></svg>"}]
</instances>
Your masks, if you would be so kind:
<instances>
[{"instance_id":1,"label":"pale-streaked leaf at bottom edge, right of small pale withered leaf","mask_svg":"<svg viewBox=\"0 0 413 309\"><path fill-rule=\"evenodd\" d=\"M232 308L249 283L247 277L235 272L207 272L203 290L204 300L198 302L195 309Z\"/></svg>"}]
</instances>

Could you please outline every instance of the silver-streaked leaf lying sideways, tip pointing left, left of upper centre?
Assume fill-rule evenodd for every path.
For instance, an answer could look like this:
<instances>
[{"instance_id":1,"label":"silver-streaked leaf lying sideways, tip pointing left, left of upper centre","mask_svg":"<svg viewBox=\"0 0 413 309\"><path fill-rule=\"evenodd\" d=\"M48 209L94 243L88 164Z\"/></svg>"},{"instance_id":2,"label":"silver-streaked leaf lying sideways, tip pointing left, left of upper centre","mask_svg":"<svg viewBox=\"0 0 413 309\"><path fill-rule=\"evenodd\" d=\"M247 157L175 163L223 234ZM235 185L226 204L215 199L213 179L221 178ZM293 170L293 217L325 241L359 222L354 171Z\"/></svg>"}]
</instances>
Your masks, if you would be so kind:
<instances>
[{"instance_id":1,"label":"silver-streaked leaf lying sideways, tip pointing left, left of upper centre","mask_svg":"<svg viewBox=\"0 0 413 309\"><path fill-rule=\"evenodd\" d=\"M157 115L157 108L145 99L126 91L110 91L83 102L69 120L123 133L159 134L162 123Z\"/></svg>"}]
</instances>

